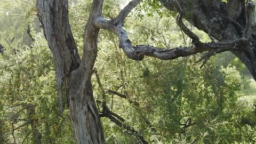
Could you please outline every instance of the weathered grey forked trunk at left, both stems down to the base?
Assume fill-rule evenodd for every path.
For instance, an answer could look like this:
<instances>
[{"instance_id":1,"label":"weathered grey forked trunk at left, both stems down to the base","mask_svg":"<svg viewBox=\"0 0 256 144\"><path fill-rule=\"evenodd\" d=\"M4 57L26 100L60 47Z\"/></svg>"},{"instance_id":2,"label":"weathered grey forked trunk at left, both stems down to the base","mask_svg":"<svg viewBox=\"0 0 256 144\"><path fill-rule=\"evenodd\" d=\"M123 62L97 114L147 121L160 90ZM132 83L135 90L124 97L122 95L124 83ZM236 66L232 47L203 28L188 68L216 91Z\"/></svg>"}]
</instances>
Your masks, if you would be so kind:
<instances>
[{"instance_id":1,"label":"weathered grey forked trunk at left, both stems down to the base","mask_svg":"<svg viewBox=\"0 0 256 144\"><path fill-rule=\"evenodd\" d=\"M82 62L71 33L67 0L38 0L38 17L56 65L59 108L62 111L62 83L66 82L71 124L76 143L104 143L96 108L91 75L97 57L99 29L92 25L101 14L102 1L94 1L84 34Z\"/></svg>"}]
</instances>

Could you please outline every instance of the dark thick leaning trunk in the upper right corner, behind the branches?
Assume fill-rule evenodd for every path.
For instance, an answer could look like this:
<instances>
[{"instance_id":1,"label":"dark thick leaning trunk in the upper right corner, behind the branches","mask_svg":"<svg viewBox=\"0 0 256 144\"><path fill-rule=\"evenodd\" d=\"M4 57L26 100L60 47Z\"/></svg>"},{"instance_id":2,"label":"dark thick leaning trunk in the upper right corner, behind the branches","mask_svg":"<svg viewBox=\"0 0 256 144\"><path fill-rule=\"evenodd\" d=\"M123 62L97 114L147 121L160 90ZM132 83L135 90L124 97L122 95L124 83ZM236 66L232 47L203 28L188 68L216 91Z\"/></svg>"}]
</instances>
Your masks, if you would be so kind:
<instances>
[{"instance_id":1,"label":"dark thick leaning trunk in the upper right corner, behind the branches","mask_svg":"<svg viewBox=\"0 0 256 144\"><path fill-rule=\"evenodd\" d=\"M175 11L173 3L167 0L158 0L166 9ZM223 3L221 0L178 0L185 9L185 19L196 28L214 37L218 41L230 41L243 37L248 23L248 9L254 4L249 1L249 7L245 7L244 0L229 0ZM253 8L254 9L254 8ZM254 11L254 10L253 10ZM249 69L256 81L256 29L254 28L250 42L243 49L231 50Z\"/></svg>"}]
</instances>

